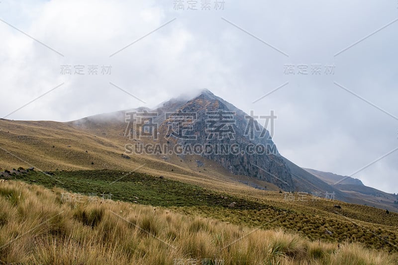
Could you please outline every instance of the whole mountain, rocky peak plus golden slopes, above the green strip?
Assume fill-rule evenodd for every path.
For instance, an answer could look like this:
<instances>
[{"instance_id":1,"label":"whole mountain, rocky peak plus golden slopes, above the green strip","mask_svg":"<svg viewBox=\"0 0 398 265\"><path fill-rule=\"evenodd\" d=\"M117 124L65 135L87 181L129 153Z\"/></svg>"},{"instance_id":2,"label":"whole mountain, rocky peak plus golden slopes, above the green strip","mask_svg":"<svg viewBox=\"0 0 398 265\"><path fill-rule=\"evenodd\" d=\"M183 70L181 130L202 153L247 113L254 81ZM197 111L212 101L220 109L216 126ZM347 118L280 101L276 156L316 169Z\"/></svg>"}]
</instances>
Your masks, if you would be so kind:
<instances>
[{"instance_id":1,"label":"whole mountain, rocky peak plus golden slopes, above the green strip","mask_svg":"<svg viewBox=\"0 0 398 265\"><path fill-rule=\"evenodd\" d=\"M395 195L360 180L347 177L333 185L343 177L300 168L274 144L272 113L265 116L268 123L259 120L208 90L152 109L138 107L71 122L0 119L2 148L14 154L3 150L0 162L5 169L18 168L22 161L23 167L46 170L131 170L145 165L152 174L316 192L321 197L333 194L334 199L380 208L398 205Z\"/></svg>"}]
</instances>

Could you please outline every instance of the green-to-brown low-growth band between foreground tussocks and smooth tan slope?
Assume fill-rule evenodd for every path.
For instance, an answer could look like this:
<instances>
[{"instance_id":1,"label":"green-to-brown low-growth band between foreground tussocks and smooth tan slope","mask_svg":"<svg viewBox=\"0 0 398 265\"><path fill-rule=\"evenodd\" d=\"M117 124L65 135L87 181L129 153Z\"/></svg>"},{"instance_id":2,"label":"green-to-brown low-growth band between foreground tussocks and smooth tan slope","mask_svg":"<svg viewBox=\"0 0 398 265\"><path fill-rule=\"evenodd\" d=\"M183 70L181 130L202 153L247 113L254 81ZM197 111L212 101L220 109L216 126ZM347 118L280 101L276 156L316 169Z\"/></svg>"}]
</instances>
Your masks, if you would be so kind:
<instances>
[{"instance_id":1,"label":"green-to-brown low-growth band between foreground tussocks and smooth tan slope","mask_svg":"<svg viewBox=\"0 0 398 265\"><path fill-rule=\"evenodd\" d=\"M23 171L22 171L23 172ZM169 177L111 170L55 171L13 174L26 183L54 186L68 194L101 196L172 208L175 211L253 228L283 227L310 240L358 242L373 249L398 252L398 214L364 205L329 201L305 195L287 201L284 193L258 190L250 195L186 183ZM80 195L78 195L80 194ZM339 204L341 209L334 207ZM327 231L331 232L327 233Z\"/></svg>"}]
</instances>

